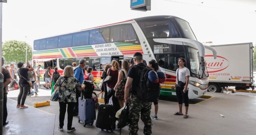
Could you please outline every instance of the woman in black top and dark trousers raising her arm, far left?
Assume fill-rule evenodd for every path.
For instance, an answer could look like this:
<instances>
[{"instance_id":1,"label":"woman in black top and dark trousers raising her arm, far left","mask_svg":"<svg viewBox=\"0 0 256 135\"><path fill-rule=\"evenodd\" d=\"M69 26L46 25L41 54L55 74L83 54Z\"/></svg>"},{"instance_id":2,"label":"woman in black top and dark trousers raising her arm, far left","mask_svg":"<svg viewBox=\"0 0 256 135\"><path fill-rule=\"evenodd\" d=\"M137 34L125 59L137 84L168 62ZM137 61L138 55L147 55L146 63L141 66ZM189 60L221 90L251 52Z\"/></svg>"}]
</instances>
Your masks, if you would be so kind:
<instances>
[{"instance_id":1,"label":"woman in black top and dark trousers raising her arm, far left","mask_svg":"<svg viewBox=\"0 0 256 135\"><path fill-rule=\"evenodd\" d=\"M27 62L27 65L30 68L24 68L24 64L22 62L19 62L17 64L18 69L18 76L20 77L20 80L18 84L20 85L20 93L18 95L18 104L17 108L28 108L27 106L24 106L27 93L30 90L30 85L27 81L30 81L30 78L28 77L28 71L33 71L34 68Z\"/></svg>"}]
</instances>

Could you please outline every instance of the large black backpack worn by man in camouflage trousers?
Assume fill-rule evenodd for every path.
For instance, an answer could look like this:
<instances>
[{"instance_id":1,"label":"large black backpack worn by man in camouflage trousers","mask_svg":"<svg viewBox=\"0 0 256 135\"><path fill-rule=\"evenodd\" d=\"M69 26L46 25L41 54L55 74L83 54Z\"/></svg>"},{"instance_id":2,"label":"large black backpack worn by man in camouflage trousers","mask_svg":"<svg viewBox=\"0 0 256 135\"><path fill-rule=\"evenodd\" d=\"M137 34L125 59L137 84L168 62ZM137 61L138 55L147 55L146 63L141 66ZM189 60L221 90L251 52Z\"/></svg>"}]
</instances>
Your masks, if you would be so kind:
<instances>
[{"instance_id":1,"label":"large black backpack worn by man in camouflage trousers","mask_svg":"<svg viewBox=\"0 0 256 135\"><path fill-rule=\"evenodd\" d=\"M140 101L143 102L154 102L158 99L160 94L160 84L159 83L152 83L148 79L148 73L151 71L151 68L148 66L139 66L143 68L140 73L140 80L139 80L139 88L137 88L137 96Z\"/></svg>"}]
</instances>

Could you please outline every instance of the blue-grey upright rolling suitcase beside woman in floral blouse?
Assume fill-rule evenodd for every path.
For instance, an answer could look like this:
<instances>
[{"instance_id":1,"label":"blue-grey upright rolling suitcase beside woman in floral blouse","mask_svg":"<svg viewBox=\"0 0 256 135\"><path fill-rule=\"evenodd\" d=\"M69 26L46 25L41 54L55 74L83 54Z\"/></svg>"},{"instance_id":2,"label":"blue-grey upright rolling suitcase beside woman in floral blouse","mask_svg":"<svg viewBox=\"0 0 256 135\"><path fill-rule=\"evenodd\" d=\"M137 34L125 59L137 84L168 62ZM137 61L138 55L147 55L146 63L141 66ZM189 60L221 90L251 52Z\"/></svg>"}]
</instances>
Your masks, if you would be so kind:
<instances>
[{"instance_id":1,"label":"blue-grey upright rolling suitcase beside woman in floral blouse","mask_svg":"<svg viewBox=\"0 0 256 135\"><path fill-rule=\"evenodd\" d=\"M84 127L89 123L92 125L96 119L94 99L86 99L81 93L81 97L78 98L78 106L78 122L80 123L80 121L82 121L84 123Z\"/></svg>"}]
</instances>

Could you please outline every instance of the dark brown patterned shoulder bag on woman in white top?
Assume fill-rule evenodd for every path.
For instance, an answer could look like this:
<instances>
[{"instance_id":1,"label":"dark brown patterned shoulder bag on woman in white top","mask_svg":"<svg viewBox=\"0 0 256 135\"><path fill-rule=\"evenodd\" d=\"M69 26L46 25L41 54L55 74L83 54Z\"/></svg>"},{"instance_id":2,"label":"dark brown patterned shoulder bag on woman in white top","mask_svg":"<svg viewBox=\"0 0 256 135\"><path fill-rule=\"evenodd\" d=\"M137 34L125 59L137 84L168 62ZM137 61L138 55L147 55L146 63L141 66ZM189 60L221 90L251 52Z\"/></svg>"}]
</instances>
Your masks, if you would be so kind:
<instances>
[{"instance_id":1,"label":"dark brown patterned shoulder bag on woman in white top","mask_svg":"<svg viewBox=\"0 0 256 135\"><path fill-rule=\"evenodd\" d=\"M123 79L117 85L116 93L115 93L115 97L120 100L124 100L124 87L125 87L125 84L127 81L124 71L122 71L122 72L123 72Z\"/></svg>"}]
</instances>

